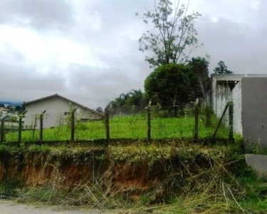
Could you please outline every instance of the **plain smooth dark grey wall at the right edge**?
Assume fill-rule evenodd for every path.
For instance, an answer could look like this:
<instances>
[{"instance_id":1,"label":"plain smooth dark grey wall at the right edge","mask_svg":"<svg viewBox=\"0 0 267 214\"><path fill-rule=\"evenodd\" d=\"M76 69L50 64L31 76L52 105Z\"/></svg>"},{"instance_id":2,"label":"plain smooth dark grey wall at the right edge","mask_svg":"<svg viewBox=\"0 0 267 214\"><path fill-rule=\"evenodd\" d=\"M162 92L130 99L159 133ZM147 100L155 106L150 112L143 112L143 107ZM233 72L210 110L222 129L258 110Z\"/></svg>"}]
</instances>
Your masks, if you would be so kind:
<instances>
[{"instance_id":1,"label":"plain smooth dark grey wall at the right edge","mask_svg":"<svg viewBox=\"0 0 267 214\"><path fill-rule=\"evenodd\" d=\"M267 78L242 78L242 126L246 148L267 146Z\"/></svg>"}]
</instances>

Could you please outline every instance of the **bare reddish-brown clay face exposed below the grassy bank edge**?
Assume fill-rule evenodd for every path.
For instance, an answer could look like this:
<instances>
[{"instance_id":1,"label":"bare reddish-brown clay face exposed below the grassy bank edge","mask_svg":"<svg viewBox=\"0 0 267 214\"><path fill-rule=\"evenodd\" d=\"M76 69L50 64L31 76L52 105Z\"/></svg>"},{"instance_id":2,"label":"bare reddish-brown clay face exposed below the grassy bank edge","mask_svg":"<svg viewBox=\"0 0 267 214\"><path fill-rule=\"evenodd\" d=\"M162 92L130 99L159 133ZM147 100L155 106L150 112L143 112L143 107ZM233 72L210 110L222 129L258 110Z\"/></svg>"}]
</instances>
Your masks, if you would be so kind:
<instances>
[{"instance_id":1,"label":"bare reddish-brown clay face exposed below the grassy bank edge","mask_svg":"<svg viewBox=\"0 0 267 214\"><path fill-rule=\"evenodd\" d=\"M63 185L86 183L93 177L112 179L122 188L145 190L164 174L164 164L149 166L98 160L93 156L84 158L56 158L44 153L26 153L7 156L0 162L0 181L6 178L23 180L27 185L43 185L57 181Z\"/></svg>"}]
</instances>

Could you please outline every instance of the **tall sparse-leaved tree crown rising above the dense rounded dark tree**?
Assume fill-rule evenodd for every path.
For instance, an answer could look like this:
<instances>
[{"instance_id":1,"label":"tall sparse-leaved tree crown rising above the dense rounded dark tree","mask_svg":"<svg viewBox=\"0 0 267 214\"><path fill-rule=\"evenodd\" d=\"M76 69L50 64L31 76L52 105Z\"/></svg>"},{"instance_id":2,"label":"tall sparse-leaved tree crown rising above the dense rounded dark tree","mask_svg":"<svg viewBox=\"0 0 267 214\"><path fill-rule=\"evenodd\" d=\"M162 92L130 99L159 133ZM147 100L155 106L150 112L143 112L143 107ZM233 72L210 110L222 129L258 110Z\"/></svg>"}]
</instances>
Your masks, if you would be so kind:
<instances>
[{"instance_id":1,"label":"tall sparse-leaved tree crown rising above the dense rounded dark tree","mask_svg":"<svg viewBox=\"0 0 267 214\"><path fill-rule=\"evenodd\" d=\"M150 67L184 63L197 46L194 23L201 15L198 12L187 14L187 11L188 5L173 6L169 0L155 0L154 10L143 14L143 21L153 25L152 30L142 34L139 40L140 51L152 52L152 56L145 58Z\"/></svg>"}]
</instances>

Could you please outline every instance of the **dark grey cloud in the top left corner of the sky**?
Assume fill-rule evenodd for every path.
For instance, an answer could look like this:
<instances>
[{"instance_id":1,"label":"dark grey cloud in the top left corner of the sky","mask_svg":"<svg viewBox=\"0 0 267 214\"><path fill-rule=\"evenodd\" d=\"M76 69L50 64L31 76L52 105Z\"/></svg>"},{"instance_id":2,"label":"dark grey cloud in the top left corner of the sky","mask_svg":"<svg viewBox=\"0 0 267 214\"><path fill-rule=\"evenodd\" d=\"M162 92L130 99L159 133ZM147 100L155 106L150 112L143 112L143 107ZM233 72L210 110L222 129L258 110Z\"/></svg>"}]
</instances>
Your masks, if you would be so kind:
<instances>
[{"instance_id":1,"label":"dark grey cloud in the top left corner of the sky","mask_svg":"<svg viewBox=\"0 0 267 214\"><path fill-rule=\"evenodd\" d=\"M0 23L29 25L38 29L63 29L73 23L73 7L63 0L2 0Z\"/></svg>"}]
</instances>

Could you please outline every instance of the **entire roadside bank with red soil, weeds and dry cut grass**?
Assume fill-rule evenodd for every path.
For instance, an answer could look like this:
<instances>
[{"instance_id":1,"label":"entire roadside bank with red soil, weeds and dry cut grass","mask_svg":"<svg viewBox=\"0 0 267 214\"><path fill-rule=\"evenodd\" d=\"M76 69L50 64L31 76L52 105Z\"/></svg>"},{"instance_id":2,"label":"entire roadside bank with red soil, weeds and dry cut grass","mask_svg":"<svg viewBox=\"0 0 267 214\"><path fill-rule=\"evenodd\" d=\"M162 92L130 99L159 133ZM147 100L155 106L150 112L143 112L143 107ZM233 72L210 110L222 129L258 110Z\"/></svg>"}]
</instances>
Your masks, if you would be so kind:
<instances>
[{"instance_id":1,"label":"entire roadside bank with red soil, weeds and dry cut grass","mask_svg":"<svg viewBox=\"0 0 267 214\"><path fill-rule=\"evenodd\" d=\"M195 194L225 201L238 193L238 200L246 194L234 180L245 169L237 158L240 150L239 145L184 141L3 144L0 191L6 197L93 208L159 205Z\"/></svg>"}]
</instances>

